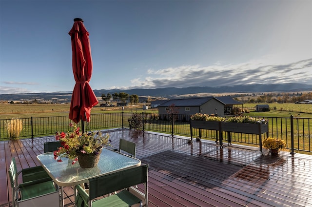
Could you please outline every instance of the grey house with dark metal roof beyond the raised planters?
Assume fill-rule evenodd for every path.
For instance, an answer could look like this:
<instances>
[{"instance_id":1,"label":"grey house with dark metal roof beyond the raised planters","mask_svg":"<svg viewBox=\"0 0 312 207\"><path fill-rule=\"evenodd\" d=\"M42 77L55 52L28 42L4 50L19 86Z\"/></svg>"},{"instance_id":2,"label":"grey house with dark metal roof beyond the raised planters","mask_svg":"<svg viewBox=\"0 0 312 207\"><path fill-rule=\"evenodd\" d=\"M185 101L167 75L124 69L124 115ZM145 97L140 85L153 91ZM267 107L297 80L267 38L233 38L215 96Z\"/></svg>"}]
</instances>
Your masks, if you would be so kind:
<instances>
[{"instance_id":1,"label":"grey house with dark metal roof beyond the raised planters","mask_svg":"<svg viewBox=\"0 0 312 207\"><path fill-rule=\"evenodd\" d=\"M235 101L230 96L172 99L158 105L158 113L160 118L162 118L164 114L167 114L169 106L172 104L175 104L175 107L178 107L178 114L193 115L195 113L203 113L223 116L225 113L231 113L234 105L242 103Z\"/></svg>"}]
</instances>

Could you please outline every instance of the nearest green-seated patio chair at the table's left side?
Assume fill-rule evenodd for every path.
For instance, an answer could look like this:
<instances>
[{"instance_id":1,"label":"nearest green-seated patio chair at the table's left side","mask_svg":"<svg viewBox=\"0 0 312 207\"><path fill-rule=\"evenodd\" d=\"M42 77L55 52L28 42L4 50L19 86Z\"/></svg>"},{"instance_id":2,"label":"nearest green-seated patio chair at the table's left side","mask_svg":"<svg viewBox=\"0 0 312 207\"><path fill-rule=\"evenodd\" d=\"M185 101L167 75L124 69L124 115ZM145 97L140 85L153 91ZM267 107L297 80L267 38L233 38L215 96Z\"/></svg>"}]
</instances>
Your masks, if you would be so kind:
<instances>
[{"instance_id":1,"label":"nearest green-seated patio chair at the table's left side","mask_svg":"<svg viewBox=\"0 0 312 207\"><path fill-rule=\"evenodd\" d=\"M59 205L59 189L54 186L50 177L19 184L19 172L15 157L12 158L8 172L12 187L13 207L52 207Z\"/></svg>"}]
</instances>

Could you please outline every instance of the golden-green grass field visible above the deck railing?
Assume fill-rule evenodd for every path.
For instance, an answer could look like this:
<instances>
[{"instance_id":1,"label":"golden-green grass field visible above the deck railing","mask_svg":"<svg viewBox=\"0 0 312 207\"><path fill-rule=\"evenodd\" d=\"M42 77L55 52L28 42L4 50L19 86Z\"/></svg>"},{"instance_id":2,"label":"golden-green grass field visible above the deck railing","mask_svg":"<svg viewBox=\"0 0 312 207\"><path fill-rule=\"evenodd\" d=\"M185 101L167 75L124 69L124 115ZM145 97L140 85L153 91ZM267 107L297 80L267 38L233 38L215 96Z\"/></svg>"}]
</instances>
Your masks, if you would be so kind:
<instances>
[{"instance_id":1,"label":"golden-green grass field visible above the deck railing","mask_svg":"<svg viewBox=\"0 0 312 207\"><path fill-rule=\"evenodd\" d=\"M269 104L271 111L255 112L254 106L256 104L244 104L244 108L248 108L250 113L248 116L260 117L312 117L312 104ZM53 117L64 116L69 113L70 104L0 104L0 119L29 118L29 117ZM273 110L276 107L276 110ZM143 104L137 106L126 106L124 112L137 113L158 113L158 109L142 110ZM121 107L100 107L92 108L92 114L121 112Z\"/></svg>"}]
</instances>

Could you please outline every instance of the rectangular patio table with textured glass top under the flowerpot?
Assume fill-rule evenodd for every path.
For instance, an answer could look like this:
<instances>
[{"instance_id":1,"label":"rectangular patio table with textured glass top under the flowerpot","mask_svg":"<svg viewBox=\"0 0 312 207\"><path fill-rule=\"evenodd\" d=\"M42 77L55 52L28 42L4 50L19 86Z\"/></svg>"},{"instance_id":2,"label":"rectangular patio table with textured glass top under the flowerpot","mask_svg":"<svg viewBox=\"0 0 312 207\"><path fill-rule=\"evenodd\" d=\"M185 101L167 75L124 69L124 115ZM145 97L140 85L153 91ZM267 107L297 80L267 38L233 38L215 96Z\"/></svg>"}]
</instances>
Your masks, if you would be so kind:
<instances>
[{"instance_id":1,"label":"rectangular patio table with textured glass top under the flowerpot","mask_svg":"<svg viewBox=\"0 0 312 207\"><path fill-rule=\"evenodd\" d=\"M81 168L78 163L72 165L72 160L63 157L63 162L57 162L53 152L40 154L37 158L53 181L60 186L61 207L64 206L63 187L80 185L88 182L90 178L141 165L140 160L107 148L103 148L98 166L91 168Z\"/></svg>"}]
</instances>

